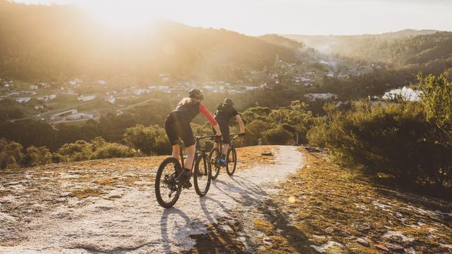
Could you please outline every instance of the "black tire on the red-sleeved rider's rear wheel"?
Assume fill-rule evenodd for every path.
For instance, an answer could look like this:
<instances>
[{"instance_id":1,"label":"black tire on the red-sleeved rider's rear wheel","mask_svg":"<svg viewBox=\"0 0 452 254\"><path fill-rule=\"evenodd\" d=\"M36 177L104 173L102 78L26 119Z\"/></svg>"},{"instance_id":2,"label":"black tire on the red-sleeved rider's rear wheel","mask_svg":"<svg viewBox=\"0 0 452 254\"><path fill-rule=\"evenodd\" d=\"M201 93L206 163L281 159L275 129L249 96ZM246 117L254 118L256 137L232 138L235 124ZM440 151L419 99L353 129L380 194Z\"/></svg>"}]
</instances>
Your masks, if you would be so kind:
<instances>
[{"instance_id":1,"label":"black tire on the red-sleeved rider's rear wheel","mask_svg":"<svg viewBox=\"0 0 452 254\"><path fill-rule=\"evenodd\" d=\"M162 195L161 187L163 187L163 186L161 186L161 184L163 183L162 174L163 174L163 170L166 169L168 164L174 164L176 176L177 176L177 172L181 171L181 164L180 164L179 160L177 160L176 158L172 158L172 157L166 158L165 160L163 160L163 162L161 162L159 169L157 170L157 173L155 176L155 196L156 196L157 202L159 202L159 205L162 208L171 208L173 205L175 205L175 203L179 199L179 196L182 191L182 185L181 185L180 181L178 181L176 193L170 201L168 201L168 202L165 201L164 198L161 196ZM163 176L163 178L165 178L165 177L166 176Z\"/></svg>"}]
</instances>

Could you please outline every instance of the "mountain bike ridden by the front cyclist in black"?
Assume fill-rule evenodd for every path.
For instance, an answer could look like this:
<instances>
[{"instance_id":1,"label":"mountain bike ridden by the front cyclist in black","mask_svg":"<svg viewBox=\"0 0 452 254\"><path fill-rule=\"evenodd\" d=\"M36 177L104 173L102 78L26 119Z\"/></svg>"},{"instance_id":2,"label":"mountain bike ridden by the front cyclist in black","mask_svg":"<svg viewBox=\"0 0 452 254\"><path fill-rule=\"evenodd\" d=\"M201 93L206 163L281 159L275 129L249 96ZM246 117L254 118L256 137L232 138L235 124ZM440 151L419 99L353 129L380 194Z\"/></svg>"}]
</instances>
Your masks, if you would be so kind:
<instances>
[{"instance_id":1,"label":"mountain bike ridden by the front cyclist in black","mask_svg":"<svg viewBox=\"0 0 452 254\"><path fill-rule=\"evenodd\" d=\"M229 143L229 149L227 149L227 153L226 153L226 172L229 176L234 175L234 172L236 171L236 166L237 166L237 152L236 149L234 148L234 144L232 144L232 141L234 141L234 139L236 137L242 136L244 133L236 133L236 134L231 134L230 136L231 138L231 142ZM213 147L213 149L210 151L209 153L209 157L210 157L210 162L213 165L213 170L212 172L212 179L215 180L218 177L218 174L220 173L220 157L223 153L223 142L220 141L220 149Z\"/></svg>"}]
</instances>

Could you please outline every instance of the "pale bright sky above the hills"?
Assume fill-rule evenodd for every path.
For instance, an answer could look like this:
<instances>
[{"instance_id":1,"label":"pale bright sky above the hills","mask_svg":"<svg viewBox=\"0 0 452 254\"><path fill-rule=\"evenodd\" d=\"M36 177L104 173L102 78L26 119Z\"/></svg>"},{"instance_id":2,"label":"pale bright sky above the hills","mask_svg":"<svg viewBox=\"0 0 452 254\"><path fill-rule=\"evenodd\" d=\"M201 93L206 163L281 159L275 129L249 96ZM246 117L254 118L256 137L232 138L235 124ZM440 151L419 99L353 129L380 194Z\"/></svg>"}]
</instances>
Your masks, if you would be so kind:
<instances>
[{"instance_id":1,"label":"pale bright sky above the hills","mask_svg":"<svg viewBox=\"0 0 452 254\"><path fill-rule=\"evenodd\" d=\"M267 33L355 35L452 31L452 0L15 0L76 4L118 27L166 18L190 26Z\"/></svg>"}]
</instances>

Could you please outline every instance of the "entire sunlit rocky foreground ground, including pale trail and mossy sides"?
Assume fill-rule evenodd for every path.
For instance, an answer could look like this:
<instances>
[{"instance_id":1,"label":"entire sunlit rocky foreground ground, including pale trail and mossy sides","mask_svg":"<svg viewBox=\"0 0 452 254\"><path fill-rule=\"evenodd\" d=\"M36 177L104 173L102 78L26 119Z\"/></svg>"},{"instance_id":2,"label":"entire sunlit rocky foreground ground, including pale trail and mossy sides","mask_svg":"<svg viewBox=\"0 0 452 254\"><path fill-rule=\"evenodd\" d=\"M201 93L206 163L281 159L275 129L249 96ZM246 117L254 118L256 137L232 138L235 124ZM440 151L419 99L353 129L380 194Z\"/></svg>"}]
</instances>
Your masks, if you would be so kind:
<instances>
[{"instance_id":1,"label":"entire sunlit rocky foreground ground, including pale trail and mossy sides","mask_svg":"<svg viewBox=\"0 0 452 254\"><path fill-rule=\"evenodd\" d=\"M261 156L272 151L274 156ZM311 152L309 152L311 151ZM154 200L163 157L0 171L0 251L449 253L452 203L376 185L316 149L250 146L209 194ZM284 172L290 169L293 174ZM298 170L297 170L298 169ZM257 173L259 172L259 173Z\"/></svg>"}]
</instances>

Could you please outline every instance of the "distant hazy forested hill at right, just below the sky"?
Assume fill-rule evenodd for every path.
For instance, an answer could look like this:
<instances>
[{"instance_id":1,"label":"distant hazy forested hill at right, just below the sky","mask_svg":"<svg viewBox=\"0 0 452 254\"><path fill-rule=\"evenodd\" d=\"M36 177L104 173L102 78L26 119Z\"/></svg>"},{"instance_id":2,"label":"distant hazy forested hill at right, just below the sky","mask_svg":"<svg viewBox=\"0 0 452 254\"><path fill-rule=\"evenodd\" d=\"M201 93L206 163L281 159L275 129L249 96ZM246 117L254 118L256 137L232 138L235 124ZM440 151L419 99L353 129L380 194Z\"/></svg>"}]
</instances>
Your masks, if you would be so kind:
<instances>
[{"instance_id":1,"label":"distant hazy forested hill at right, just below the sky","mask_svg":"<svg viewBox=\"0 0 452 254\"><path fill-rule=\"evenodd\" d=\"M452 33L404 30L381 35L284 35L308 46L342 56L388 62L426 73L452 67Z\"/></svg>"}]
</instances>

